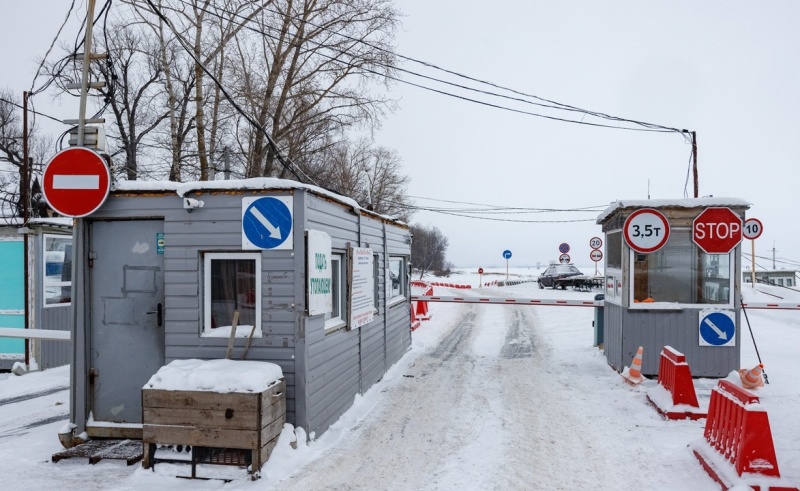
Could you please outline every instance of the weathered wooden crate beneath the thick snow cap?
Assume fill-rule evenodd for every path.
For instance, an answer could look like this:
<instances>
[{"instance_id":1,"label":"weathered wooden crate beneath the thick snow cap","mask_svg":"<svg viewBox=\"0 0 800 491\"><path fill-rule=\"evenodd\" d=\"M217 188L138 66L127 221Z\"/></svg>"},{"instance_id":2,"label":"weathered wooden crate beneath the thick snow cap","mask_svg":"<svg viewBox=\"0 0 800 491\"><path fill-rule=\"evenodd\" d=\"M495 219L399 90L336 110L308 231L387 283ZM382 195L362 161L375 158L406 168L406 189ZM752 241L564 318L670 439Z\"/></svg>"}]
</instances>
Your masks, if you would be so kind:
<instances>
[{"instance_id":1,"label":"weathered wooden crate beneath the thick snow cap","mask_svg":"<svg viewBox=\"0 0 800 491\"><path fill-rule=\"evenodd\" d=\"M269 458L286 422L283 379L263 392L142 389L143 466L156 444L251 451L255 474Z\"/></svg>"}]
</instances>

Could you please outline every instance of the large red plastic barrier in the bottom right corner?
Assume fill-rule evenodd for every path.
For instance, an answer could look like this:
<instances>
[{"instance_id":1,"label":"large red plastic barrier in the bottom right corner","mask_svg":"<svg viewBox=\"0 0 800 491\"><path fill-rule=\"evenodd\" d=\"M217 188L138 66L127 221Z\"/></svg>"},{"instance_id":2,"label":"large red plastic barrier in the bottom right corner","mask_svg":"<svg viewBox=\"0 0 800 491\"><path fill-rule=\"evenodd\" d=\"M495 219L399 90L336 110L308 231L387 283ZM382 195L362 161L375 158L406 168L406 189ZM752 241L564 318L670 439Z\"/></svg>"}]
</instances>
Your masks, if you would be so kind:
<instances>
[{"instance_id":1,"label":"large red plastic barrier in the bottom right corner","mask_svg":"<svg viewBox=\"0 0 800 491\"><path fill-rule=\"evenodd\" d=\"M758 397L728 380L712 389L704 438L692 449L723 489L800 491L780 477L769 418Z\"/></svg>"}]
</instances>

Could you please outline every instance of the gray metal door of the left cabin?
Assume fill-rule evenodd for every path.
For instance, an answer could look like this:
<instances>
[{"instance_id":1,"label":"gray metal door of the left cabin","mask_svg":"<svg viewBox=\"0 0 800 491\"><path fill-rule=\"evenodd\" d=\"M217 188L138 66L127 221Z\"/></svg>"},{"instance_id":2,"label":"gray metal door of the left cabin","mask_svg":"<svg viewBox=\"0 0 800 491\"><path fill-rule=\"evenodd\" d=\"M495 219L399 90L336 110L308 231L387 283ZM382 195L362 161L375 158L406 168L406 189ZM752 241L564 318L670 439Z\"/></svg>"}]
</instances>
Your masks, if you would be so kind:
<instances>
[{"instance_id":1,"label":"gray metal door of the left cabin","mask_svg":"<svg viewBox=\"0 0 800 491\"><path fill-rule=\"evenodd\" d=\"M89 225L89 390L95 421L141 423L142 386L164 364L164 222Z\"/></svg>"}]
</instances>

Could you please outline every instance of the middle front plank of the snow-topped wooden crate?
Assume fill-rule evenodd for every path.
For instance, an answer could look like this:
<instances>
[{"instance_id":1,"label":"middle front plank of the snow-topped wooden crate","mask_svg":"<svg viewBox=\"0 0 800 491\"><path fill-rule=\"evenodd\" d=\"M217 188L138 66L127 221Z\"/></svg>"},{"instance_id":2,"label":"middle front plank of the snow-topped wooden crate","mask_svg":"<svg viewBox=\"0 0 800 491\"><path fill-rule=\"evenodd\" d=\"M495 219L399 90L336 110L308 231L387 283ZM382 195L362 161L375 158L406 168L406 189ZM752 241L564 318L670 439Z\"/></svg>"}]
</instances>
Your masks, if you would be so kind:
<instances>
[{"instance_id":1,"label":"middle front plank of the snow-topped wooden crate","mask_svg":"<svg viewBox=\"0 0 800 491\"><path fill-rule=\"evenodd\" d=\"M192 409L144 407L144 424L230 428L256 431L259 414L240 409ZM178 442L180 443L180 442Z\"/></svg>"}]
</instances>

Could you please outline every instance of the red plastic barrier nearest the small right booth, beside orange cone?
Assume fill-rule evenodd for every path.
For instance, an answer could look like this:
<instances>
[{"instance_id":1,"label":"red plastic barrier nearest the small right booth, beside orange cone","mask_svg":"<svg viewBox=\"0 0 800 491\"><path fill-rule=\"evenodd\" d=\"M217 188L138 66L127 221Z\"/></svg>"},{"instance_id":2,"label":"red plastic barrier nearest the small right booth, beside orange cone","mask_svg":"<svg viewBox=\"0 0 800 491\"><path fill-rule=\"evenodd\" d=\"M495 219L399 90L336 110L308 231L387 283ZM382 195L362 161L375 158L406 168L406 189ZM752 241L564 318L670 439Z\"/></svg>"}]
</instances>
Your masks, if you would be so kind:
<instances>
[{"instance_id":1,"label":"red plastic barrier nearest the small right booth, beside orange cone","mask_svg":"<svg viewBox=\"0 0 800 491\"><path fill-rule=\"evenodd\" d=\"M669 394L671 404L666 404L660 390ZM667 419L700 419L706 413L700 410L697 393L692 382L692 372L686 357L671 346L664 346L658 361L658 386L648 391L647 399Z\"/></svg>"}]
</instances>

